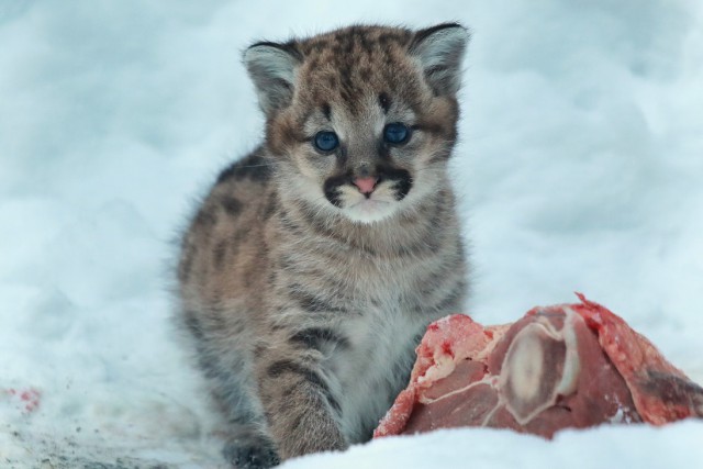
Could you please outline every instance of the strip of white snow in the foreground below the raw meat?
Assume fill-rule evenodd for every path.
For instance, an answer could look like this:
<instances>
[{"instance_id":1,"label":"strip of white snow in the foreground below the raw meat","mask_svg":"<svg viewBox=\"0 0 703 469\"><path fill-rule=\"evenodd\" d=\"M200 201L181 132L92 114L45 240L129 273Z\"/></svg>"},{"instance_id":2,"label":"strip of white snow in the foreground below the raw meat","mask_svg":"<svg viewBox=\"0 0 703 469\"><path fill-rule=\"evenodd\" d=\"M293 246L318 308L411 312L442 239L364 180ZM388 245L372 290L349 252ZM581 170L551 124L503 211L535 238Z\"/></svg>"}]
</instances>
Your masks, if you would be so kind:
<instances>
[{"instance_id":1,"label":"strip of white snow in the foreground below the raw meat","mask_svg":"<svg viewBox=\"0 0 703 469\"><path fill-rule=\"evenodd\" d=\"M498 429L444 429L355 446L345 454L306 456L286 469L688 468L703 460L701 426L602 427L563 432L554 442Z\"/></svg>"}]
</instances>

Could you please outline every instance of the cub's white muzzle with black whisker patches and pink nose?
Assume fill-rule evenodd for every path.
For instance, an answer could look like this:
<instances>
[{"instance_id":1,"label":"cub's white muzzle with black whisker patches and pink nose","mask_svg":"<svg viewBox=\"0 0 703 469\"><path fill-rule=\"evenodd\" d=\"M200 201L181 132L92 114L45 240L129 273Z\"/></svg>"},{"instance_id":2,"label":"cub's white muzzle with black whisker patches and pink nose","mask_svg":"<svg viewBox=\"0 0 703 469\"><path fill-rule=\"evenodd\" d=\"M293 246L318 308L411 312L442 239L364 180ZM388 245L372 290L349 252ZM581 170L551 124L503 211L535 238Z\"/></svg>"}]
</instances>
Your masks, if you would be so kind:
<instances>
[{"instance_id":1,"label":"cub's white muzzle with black whisker patches and pink nose","mask_svg":"<svg viewBox=\"0 0 703 469\"><path fill-rule=\"evenodd\" d=\"M368 223L389 216L413 187L406 169L378 167L359 172L333 176L323 186L327 201L353 221Z\"/></svg>"}]
</instances>

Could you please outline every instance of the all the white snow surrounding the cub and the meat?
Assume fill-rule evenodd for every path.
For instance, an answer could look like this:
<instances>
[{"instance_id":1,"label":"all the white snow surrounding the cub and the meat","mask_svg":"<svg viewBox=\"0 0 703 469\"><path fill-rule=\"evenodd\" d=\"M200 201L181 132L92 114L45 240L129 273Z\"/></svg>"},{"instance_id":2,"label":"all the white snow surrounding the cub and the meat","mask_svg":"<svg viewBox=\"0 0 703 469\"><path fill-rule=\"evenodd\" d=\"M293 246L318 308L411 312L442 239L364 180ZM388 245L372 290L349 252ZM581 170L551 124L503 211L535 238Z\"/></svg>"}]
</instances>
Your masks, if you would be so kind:
<instances>
[{"instance_id":1,"label":"all the white snow surrounding the cub and the meat","mask_svg":"<svg viewBox=\"0 0 703 469\"><path fill-rule=\"evenodd\" d=\"M454 161L491 324L583 291L703 382L696 0L0 2L0 467L215 468L169 326L178 233L261 134L238 52L470 25ZM703 423L390 438L289 468L701 467ZM440 464L443 462L443 464Z\"/></svg>"}]
</instances>

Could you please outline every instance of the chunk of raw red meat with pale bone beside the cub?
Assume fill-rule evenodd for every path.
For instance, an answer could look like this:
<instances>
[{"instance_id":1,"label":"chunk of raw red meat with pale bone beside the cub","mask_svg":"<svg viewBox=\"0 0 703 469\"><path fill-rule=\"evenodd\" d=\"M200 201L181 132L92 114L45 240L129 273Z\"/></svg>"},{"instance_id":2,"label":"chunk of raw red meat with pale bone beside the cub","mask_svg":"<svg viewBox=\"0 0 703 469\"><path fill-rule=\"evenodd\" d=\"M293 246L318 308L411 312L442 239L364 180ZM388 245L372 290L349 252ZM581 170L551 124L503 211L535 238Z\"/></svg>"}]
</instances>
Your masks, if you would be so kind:
<instances>
[{"instance_id":1,"label":"chunk of raw red meat with pale bone beside the cub","mask_svg":"<svg viewBox=\"0 0 703 469\"><path fill-rule=\"evenodd\" d=\"M550 438L566 427L703 416L701 387L578 295L581 303L535 308L507 325L458 314L431 324L409 387L373 436L489 426Z\"/></svg>"}]
</instances>

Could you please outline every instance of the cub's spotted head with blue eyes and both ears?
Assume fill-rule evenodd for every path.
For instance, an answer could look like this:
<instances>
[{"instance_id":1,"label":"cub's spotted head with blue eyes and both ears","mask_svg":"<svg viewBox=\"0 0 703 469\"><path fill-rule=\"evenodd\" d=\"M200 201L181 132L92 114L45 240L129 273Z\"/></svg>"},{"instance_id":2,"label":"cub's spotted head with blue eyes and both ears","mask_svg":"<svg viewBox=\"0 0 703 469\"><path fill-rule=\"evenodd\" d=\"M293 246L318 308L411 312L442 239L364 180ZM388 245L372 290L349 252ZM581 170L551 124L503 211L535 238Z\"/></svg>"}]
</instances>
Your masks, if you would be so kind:
<instances>
[{"instance_id":1,"label":"cub's spotted head with blue eyes and both ears","mask_svg":"<svg viewBox=\"0 0 703 469\"><path fill-rule=\"evenodd\" d=\"M455 23L352 26L246 49L283 196L371 223L436 193L468 38Z\"/></svg>"}]
</instances>

